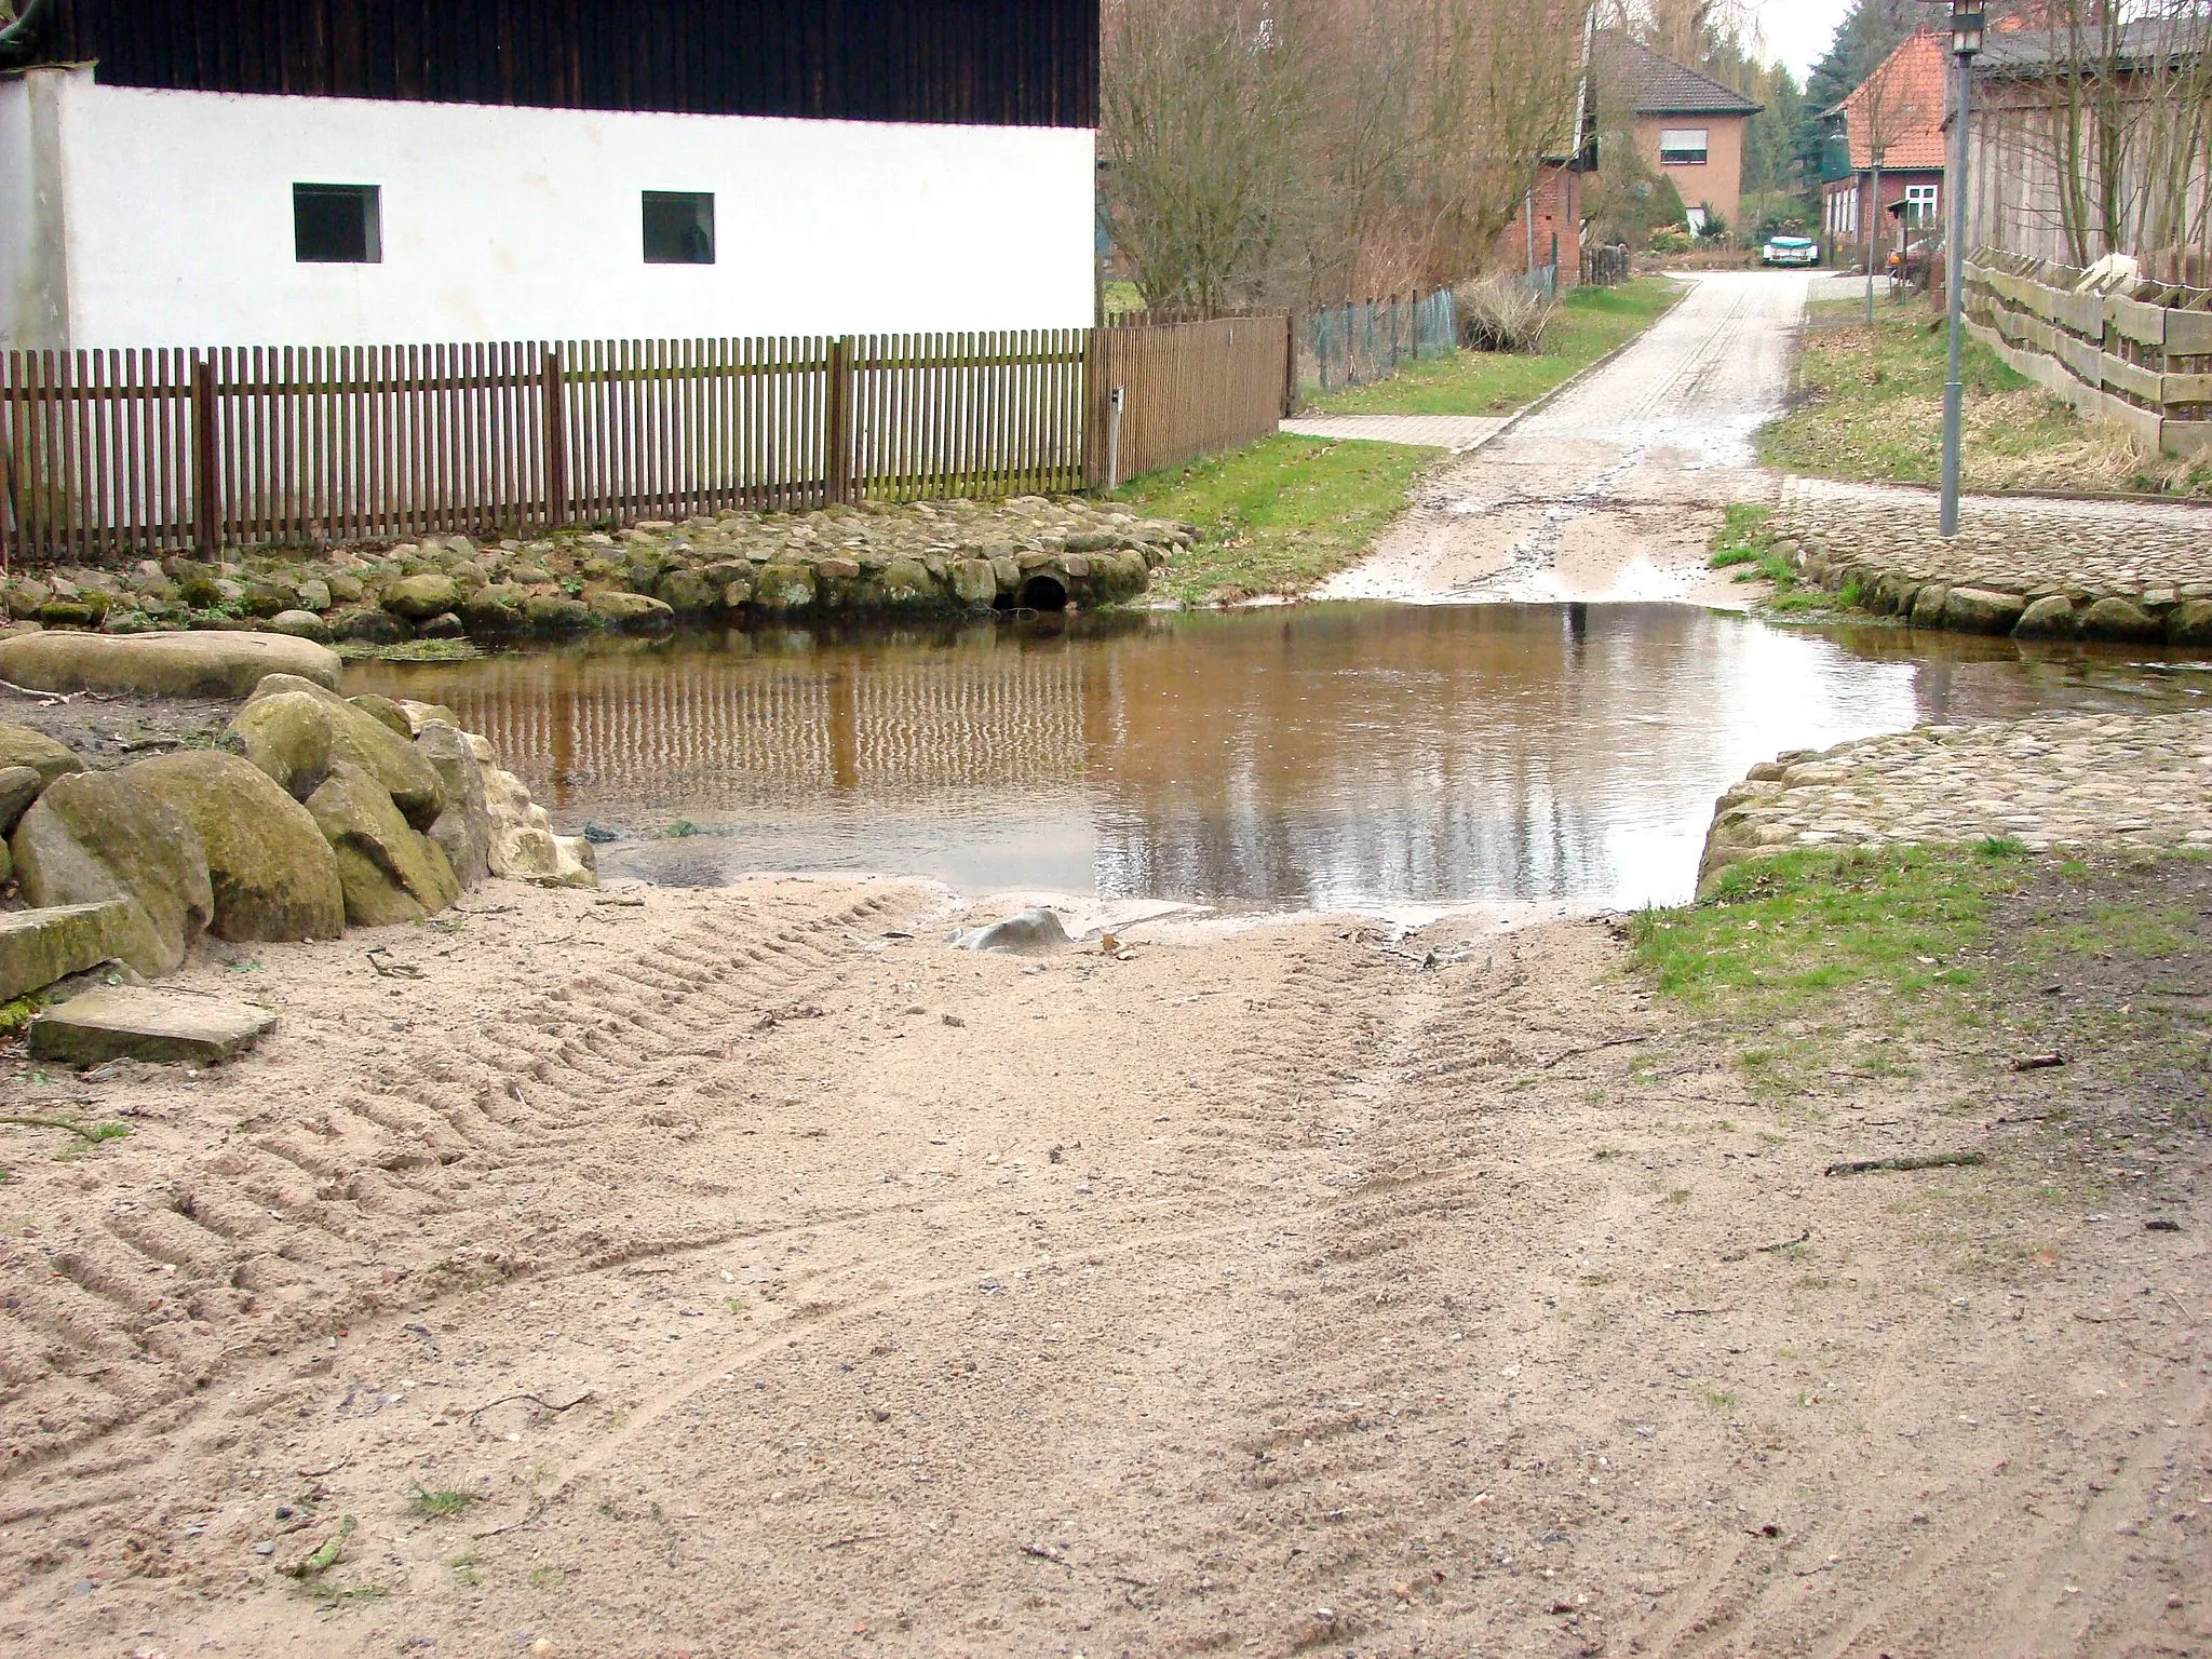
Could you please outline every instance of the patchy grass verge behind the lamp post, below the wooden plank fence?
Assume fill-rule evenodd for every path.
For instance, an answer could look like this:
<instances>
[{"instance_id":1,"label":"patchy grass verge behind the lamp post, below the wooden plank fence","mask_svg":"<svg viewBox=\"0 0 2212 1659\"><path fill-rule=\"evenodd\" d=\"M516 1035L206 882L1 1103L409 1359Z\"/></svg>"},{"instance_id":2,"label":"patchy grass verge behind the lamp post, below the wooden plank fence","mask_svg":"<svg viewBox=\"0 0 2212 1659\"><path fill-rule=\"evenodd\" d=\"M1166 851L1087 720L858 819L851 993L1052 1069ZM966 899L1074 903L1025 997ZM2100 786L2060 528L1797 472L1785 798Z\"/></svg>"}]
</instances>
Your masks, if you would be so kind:
<instances>
[{"instance_id":1,"label":"patchy grass verge behind the lamp post, below the wooden plank fence","mask_svg":"<svg viewBox=\"0 0 2212 1659\"><path fill-rule=\"evenodd\" d=\"M1942 467L1949 341L1920 305L1816 301L1796 407L1759 436L1770 467L1827 478L1933 484ZM2084 420L1995 352L1966 341L1966 489L2212 495L2212 462L2146 456L2126 431Z\"/></svg>"}]
</instances>

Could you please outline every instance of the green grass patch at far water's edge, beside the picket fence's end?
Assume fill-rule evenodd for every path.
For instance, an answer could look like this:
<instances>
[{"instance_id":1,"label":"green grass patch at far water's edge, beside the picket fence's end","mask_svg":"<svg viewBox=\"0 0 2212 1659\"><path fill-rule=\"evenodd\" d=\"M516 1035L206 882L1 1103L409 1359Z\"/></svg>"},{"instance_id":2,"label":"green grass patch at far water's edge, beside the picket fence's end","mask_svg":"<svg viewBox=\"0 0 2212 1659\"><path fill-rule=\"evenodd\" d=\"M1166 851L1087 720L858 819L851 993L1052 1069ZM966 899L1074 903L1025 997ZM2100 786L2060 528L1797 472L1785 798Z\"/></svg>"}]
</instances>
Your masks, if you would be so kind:
<instances>
[{"instance_id":1,"label":"green grass patch at far water's edge, beside the picket fence's end","mask_svg":"<svg viewBox=\"0 0 2212 1659\"><path fill-rule=\"evenodd\" d=\"M1442 453L1411 445L1261 438L1128 480L1115 500L1199 526L1155 577L1186 604L1296 595L1358 560Z\"/></svg>"}]
</instances>

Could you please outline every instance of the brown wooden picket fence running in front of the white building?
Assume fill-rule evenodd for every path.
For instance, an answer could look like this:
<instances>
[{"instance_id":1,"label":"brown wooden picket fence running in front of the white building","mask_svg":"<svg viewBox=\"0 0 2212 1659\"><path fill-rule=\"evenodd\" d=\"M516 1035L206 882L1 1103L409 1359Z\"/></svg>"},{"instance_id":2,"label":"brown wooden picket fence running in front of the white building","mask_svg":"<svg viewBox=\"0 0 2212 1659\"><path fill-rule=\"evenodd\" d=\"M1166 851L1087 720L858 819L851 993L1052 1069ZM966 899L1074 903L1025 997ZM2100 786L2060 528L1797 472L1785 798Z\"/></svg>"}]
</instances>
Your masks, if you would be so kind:
<instances>
[{"instance_id":1,"label":"brown wooden picket fence running in front of the white building","mask_svg":"<svg viewBox=\"0 0 2212 1659\"><path fill-rule=\"evenodd\" d=\"M1285 319L0 354L0 562L1055 493L1274 429ZM1126 414L1128 414L1126 411ZM1126 460L1121 476L1135 471Z\"/></svg>"}]
</instances>

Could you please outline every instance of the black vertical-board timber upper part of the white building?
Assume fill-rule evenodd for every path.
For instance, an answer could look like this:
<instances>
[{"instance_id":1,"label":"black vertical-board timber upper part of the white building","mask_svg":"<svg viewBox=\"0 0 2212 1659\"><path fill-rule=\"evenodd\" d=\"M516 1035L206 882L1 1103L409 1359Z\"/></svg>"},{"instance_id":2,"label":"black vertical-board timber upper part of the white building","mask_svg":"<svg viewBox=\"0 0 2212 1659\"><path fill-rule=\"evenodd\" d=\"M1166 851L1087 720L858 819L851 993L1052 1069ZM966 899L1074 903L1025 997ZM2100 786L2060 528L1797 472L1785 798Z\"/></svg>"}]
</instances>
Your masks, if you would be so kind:
<instances>
[{"instance_id":1,"label":"black vertical-board timber upper part of the white building","mask_svg":"<svg viewBox=\"0 0 2212 1659\"><path fill-rule=\"evenodd\" d=\"M46 0L108 86L1097 126L1099 0Z\"/></svg>"}]
</instances>

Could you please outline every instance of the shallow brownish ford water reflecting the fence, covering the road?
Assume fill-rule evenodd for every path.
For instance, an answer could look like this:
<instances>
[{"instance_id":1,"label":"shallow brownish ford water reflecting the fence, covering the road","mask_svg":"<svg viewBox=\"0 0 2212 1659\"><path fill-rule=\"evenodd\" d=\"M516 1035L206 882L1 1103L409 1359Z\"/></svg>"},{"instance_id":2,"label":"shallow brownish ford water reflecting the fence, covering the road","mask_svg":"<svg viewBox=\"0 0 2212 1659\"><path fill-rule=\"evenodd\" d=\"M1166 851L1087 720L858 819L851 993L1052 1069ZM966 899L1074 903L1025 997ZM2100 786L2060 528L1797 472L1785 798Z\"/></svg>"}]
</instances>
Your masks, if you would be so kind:
<instances>
[{"instance_id":1,"label":"shallow brownish ford water reflecting the fence, covering the road","mask_svg":"<svg viewBox=\"0 0 2212 1659\"><path fill-rule=\"evenodd\" d=\"M1659 604L1303 606L347 679L449 703L562 830L619 832L602 872L883 869L1248 909L1681 900L1714 796L1778 750L2199 706L2212 664Z\"/></svg>"}]
</instances>

